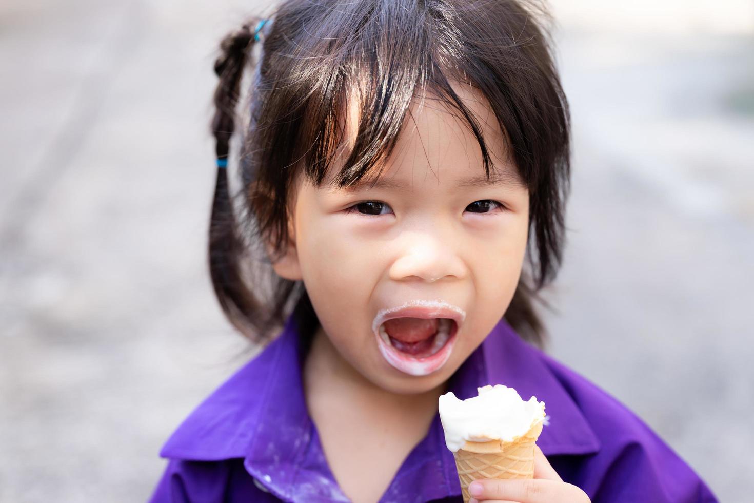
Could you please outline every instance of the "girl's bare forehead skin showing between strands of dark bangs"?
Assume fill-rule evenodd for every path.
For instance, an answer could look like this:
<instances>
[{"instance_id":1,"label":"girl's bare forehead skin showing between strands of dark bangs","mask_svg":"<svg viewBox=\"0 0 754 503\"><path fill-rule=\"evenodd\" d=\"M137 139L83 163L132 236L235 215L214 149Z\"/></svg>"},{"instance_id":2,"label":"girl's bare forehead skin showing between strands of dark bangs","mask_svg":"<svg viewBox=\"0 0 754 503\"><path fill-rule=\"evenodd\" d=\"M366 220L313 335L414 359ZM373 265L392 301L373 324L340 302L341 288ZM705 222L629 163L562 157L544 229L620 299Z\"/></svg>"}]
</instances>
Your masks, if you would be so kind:
<instances>
[{"instance_id":1,"label":"girl's bare forehead skin showing between strands of dark bangs","mask_svg":"<svg viewBox=\"0 0 754 503\"><path fill-rule=\"evenodd\" d=\"M501 183L526 189L507 148L508 141L489 101L470 84L451 81L453 90L477 121L492 161L489 179L484 170L482 150L470 124L449 101L431 92L419 91L409 107L395 148L384 163L375 165L362 179L342 189L365 187L405 188L412 182L435 179L456 186ZM360 123L360 97L357 90L348 99L342 114L341 149L333 167L342 167L354 149ZM336 172L325 177L336 188Z\"/></svg>"}]
</instances>

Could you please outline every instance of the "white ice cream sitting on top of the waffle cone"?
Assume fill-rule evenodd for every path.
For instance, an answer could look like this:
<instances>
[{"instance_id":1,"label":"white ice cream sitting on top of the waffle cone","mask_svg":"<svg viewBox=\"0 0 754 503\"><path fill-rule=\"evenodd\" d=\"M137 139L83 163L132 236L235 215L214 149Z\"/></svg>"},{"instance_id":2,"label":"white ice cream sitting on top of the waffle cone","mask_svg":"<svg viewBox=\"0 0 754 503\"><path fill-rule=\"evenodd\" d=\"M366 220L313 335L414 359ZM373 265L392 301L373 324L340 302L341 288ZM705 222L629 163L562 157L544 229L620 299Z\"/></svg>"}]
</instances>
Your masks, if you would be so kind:
<instances>
[{"instance_id":1,"label":"white ice cream sitting on top of the waffle cone","mask_svg":"<svg viewBox=\"0 0 754 503\"><path fill-rule=\"evenodd\" d=\"M440 422L452 452L467 441L510 442L544 419L544 402L536 397L525 402L516 390L504 385L486 385L477 391L478 396L466 400L459 400L452 391L440 397Z\"/></svg>"}]
</instances>

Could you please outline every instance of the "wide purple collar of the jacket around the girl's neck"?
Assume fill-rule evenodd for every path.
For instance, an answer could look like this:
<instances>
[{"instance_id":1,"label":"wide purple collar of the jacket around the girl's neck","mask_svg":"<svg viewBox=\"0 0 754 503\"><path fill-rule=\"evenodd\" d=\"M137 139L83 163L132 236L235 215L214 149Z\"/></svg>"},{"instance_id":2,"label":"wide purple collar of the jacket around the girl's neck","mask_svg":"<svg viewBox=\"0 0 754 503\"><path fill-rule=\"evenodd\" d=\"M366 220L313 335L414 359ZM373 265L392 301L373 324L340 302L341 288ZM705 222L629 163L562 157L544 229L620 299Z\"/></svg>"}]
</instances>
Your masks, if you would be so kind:
<instances>
[{"instance_id":1,"label":"wide purple collar of the jacket around the girl's neck","mask_svg":"<svg viewBox=\"0 0 754 503\"><path fill-rule=\"evenodd\" d=\"M304 346L296 319L290 316L280 336L207 397L167 440L160 455L197 461L243 458L247 471L280 498L348 501L329 471L306 409L301 374ZM504 384L519 391L524 400L533 395L544 401L549 419L537 442L544 454L596 452L599 440L553 371L558 365L501 320L452 376L449 391L463 399L475 396L479 386ZM386 498L391 491L415 488L417 473L429 477L424 485L431 488L424 493L428 499L460 493L439 414L427 437L400 467Z\"/></svg>"}]
</instances>

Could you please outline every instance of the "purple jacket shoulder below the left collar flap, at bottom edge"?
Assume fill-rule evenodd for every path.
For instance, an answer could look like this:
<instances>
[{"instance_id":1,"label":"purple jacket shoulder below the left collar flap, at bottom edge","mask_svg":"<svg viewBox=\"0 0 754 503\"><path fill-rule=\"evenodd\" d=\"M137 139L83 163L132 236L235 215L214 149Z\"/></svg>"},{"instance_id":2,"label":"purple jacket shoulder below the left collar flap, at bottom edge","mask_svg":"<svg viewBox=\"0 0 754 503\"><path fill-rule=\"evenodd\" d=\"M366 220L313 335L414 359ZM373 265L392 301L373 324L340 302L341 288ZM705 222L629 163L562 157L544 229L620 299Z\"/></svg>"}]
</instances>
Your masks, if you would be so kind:
<instances>
[{"instance_id":1,"label":"purple jacket shoulder below the left collar flap, at bottom edge","mask_svg":"<svg viewBox=\"0 0 754 503\"><path fill-rule=\"evenodd\" d=\"M244 468L242 459L219 462L170 459L149 503L280 501Z\"/></svg>"}]
</instances>

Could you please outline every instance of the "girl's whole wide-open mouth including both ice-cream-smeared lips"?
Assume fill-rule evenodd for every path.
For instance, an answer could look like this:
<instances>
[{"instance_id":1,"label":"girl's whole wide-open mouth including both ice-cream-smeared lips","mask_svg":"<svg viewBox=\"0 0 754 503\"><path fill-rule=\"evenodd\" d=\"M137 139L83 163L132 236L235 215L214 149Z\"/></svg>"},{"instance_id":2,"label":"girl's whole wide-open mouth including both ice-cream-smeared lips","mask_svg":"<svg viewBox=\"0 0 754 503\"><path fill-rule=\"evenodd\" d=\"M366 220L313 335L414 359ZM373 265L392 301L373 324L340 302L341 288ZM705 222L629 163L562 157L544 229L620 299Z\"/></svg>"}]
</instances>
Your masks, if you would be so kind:
<instances>
[{"instance_id":1,"label":"girl's whole wide-open mouth including both ice-cream-smeared lips","mask_svg":"<svg viewBox=\"0 0 754 503\"><path fill-rule=\"evenodd\" d=\"M388 363L409 375L426 376L450 357L465 317L463 309L442 300L412 300L380 310L372 331Z\"/></svg>"}]
</instances>

